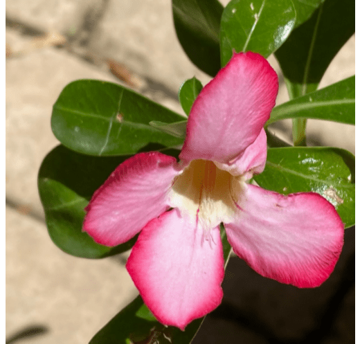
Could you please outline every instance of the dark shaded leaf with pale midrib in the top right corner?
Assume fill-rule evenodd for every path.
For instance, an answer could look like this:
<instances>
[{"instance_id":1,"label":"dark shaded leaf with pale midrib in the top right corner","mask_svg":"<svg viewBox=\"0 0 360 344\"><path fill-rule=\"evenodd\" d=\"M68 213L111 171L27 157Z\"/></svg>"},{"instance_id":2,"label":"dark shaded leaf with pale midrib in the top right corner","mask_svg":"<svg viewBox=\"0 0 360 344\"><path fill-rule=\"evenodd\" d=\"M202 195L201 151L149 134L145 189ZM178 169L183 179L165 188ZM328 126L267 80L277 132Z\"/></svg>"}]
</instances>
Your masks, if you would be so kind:
<instances>
[{"instance_id":1,"label":"dark shaded leaf with pale midrib in the top right corner","mask_svg":"<svg viewBox=\"0 0 360 344\"><path fill-rule=\"evenodd\" d=\"M290 98L315 91L340 48L355 32L354 0L326 0L276 51Z\"/></svg>"}]
</instances>

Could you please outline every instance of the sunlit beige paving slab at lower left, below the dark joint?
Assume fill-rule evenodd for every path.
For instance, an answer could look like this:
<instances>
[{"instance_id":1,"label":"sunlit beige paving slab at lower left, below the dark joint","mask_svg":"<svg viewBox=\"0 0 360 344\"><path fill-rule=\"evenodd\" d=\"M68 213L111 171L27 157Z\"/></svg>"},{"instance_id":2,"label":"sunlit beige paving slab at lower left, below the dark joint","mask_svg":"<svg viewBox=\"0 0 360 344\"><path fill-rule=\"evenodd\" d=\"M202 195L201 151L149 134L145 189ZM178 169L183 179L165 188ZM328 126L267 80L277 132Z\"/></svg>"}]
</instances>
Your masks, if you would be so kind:
<instances>
[{"instance_id":1,"label":"sunlit beige paving slab at lower left, below the dark joint","mask_svg":"<svg viewBox=\"0 0 360 344\"><path fill-rule=\"evenodd\" d=\"M41 327L26 343L88 343L136 297L118 260L85 260L58 249L44 221L6 207L6 336Z\"/></svg>"}]
</instances>

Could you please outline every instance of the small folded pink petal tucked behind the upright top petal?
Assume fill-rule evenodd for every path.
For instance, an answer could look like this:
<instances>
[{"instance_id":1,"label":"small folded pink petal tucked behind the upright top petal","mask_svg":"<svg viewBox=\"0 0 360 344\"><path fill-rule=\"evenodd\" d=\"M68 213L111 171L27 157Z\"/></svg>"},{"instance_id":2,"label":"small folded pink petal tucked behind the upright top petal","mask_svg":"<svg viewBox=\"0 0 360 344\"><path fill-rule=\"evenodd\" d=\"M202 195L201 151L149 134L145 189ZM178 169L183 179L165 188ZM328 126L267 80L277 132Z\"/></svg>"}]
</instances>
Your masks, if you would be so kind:
<instances>
[{"instance_id":1,"label":"small folded pink petal tucked behind the upright top petal","mask_svg":"<svg viewBox=\"0 0 360 344\"><path fill-rule=\"evenodd\" d=\"M267 163L267 134L263 129L256 140L240 154L234 161L228 163L217 163L217 168L228 171L233 176L243 176L248 181L253 174L260 174L264 171Z\"/></svg>"}]
</instances>

